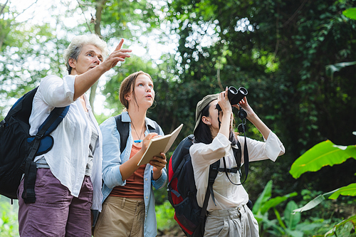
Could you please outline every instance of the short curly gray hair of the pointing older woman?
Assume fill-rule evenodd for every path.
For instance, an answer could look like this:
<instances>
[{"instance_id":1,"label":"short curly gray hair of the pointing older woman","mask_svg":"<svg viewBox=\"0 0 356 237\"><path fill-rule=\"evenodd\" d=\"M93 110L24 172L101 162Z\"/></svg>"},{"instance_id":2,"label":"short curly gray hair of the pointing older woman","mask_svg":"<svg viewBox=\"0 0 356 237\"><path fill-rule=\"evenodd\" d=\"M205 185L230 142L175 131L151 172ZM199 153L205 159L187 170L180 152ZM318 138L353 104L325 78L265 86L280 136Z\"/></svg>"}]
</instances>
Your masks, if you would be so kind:
<instances>
[{"instance_id":1,"label":"short curly gray hair of the pointing older woman","mask_svg":"<svg viewBox=\"0 0 356 237\"><path fill-rule=\"evenodd\" d=\"M72 72L72 68L68 63L69 58L78 60L78 56L80 54L81 49L83 48L83 46L86 46L88 44L99 48L104 58L108 56L108 46L105 41L99 38L98 35L92 33L89 35L75 36L72 42L70 42L68 48L63 52L63 57L66 63L68 74Z\"/></svg>"}]
</instances>

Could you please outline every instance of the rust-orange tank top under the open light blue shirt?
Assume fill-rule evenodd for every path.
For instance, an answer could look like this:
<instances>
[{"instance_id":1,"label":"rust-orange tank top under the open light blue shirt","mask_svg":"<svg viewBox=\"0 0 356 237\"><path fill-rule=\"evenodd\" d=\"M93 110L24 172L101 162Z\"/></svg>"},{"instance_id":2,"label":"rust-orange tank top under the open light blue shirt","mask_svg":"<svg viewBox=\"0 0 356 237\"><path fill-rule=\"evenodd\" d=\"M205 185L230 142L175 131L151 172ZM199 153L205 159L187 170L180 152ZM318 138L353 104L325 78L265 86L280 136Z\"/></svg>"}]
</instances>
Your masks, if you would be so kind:
<instances>
[{"instance_id":1,"label":"rust-orange tank top under the open light blue shirt","mask_svg":"<svg viewBox=\"0 0 356 237\"><path fill-rule=\"evenodd\" d=\"M141 147L132 144L130 159L139 152ZM142 164L128 179L125 186L115 186L109 196L121 196L128 199L143 199L143 174L146 164Z\"/></svg>"}]
</instances>

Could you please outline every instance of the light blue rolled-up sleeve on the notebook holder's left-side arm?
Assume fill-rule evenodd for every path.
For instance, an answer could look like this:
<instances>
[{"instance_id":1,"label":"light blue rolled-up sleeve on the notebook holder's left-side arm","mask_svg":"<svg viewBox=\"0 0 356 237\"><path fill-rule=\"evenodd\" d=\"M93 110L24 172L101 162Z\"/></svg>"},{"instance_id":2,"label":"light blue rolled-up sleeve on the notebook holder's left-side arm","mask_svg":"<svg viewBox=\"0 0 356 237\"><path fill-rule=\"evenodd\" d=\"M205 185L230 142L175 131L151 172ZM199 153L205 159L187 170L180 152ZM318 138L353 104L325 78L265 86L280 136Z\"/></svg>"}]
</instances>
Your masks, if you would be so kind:
<instances>
[{"instance_id":1,"label":"light blue rolled-up sleeve on the notebook holder's left-side arm","mask_svg":"<svg viewBox=\"0 0 356 237\"><path fill-rule=\"evenodd\" d=\"M115 117L105 120L100 130L103 134L103 180L108 188L113 189L125 184L120 173L120 134L117 132Z\"/></svg>"}]
</instances>

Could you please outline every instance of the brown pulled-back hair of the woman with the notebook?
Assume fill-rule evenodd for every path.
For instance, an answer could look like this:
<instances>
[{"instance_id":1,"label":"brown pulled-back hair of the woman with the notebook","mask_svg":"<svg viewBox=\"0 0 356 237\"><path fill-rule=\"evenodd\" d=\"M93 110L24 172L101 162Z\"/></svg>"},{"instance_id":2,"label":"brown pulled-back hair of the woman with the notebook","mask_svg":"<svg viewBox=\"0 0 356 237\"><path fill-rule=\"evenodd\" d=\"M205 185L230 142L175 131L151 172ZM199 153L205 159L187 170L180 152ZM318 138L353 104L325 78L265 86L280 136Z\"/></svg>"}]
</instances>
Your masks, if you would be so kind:
<instances>
[{"instance_id":1,"label":"brown pulled-back hair of the woman with the notebook","mask_svg":"<svg viewBox=\"0 0 356 237\"><path fill-rule=\"evenodd\" d=\"M136 83L136 79L139 75L147 75L148 78L151 78L151 76L148 73L144 73L142 72L142 70L136 72L136 73L132 73L131 75L129 75L127 78L125 78L125 80L122 80L122 83L120 85L120 91L119 91L119 98L120 98L120 102L122 103L122 105L125 106L126 109L129 108L129 102L126 100L126 95L128 93L131 92L132 90L132 98L135 100L136 105L137 101L136 101L136 96L135 96L135 90L133 90L135 88L135 83ZM152 80L153 83L153 80Z\"/></svg>"}]
</instances>

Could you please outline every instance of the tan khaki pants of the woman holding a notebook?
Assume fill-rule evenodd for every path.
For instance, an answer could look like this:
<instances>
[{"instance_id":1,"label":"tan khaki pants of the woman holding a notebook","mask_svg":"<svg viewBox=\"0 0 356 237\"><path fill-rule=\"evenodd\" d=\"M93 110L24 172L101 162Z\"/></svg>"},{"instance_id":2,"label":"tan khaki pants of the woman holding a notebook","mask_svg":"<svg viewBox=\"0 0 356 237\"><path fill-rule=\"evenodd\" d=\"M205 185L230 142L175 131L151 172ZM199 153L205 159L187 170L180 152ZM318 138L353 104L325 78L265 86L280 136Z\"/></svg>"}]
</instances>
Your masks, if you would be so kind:
<instances>
[{"instance_id":1,"label":"tan khaki pants of the woman holding a notebook","mask_svg":"<svg viewBox=\"0 0 356 237\"><path fill-rule=\"evenodd\" d=\"M108 196L95 224L93 236L142 237L145 222L145 201Z\"/></svg>"}]
</instances>

